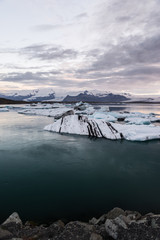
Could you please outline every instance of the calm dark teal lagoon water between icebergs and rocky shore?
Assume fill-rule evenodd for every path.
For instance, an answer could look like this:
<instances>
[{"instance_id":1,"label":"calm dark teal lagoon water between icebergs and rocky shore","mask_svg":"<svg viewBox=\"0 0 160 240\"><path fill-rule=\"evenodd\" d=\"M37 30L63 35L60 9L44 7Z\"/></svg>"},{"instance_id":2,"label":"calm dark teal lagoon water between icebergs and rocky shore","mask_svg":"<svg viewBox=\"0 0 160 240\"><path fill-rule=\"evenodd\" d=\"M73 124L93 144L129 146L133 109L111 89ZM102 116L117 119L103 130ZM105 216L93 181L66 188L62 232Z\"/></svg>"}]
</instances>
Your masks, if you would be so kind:
<instances>
[{"instance_id":1,"label":"calm dark teal lagoon water between icebergs and rocky shore","mask_svg":"<svg viewBox=\"0 0 160 240\"><path fill-rule=\"evenodd\" d=\"M121 110L124 106L112 106ZM140 111L140 105L129 106ZM160 113L160 106L141 111ZM113 207L160 212L160 141L43 131L52 118L0 113L0 221L89 219Z\"/></svg>"}]
</instances>

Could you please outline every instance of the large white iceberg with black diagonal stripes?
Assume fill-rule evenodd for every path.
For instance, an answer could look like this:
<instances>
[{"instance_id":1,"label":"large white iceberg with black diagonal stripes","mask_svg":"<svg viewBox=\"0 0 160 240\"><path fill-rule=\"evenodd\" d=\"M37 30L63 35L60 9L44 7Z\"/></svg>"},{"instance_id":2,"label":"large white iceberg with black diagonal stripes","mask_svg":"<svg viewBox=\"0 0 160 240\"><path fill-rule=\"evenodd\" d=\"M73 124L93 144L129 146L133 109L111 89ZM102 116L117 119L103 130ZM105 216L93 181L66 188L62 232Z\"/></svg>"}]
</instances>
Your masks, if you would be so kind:
<instances>
[{"instance_id":1,"label":"large white iceberg with black diagonal stripes","mask_svg":"<svg viewBox=\"0 0 160 240\"><path fill-rule=\"evenodd\" d=\"M160 126L110 123L103 119L89 119L86 116L77 115L61 118L55 123L46 126L44 130L104 137L112 140L147 141L160 139Z\"/></svg>"}]
</instances>

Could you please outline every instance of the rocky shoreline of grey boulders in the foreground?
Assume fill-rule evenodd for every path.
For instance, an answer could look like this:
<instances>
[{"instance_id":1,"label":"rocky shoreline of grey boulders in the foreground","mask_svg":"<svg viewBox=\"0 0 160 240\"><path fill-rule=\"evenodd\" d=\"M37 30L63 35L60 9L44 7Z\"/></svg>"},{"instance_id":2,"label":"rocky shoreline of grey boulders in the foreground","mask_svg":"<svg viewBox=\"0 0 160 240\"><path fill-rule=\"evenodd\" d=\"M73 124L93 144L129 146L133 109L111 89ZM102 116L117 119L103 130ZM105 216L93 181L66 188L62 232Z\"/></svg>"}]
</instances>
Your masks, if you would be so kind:
<instances>
[{"instance_id":1,"label":"rocky shoreline of grey boulders in the foreground","mask_svg":"<svg viewBox=\"0 0 160 240\"><path fill-rule=\"evenodd\" d=\"M114 208L89 222L58 220L51 225L22 223L13 213L0 225L0 240L159 240L160 215L142 216L136 211Z\"/></svg>"}]
</instances>

